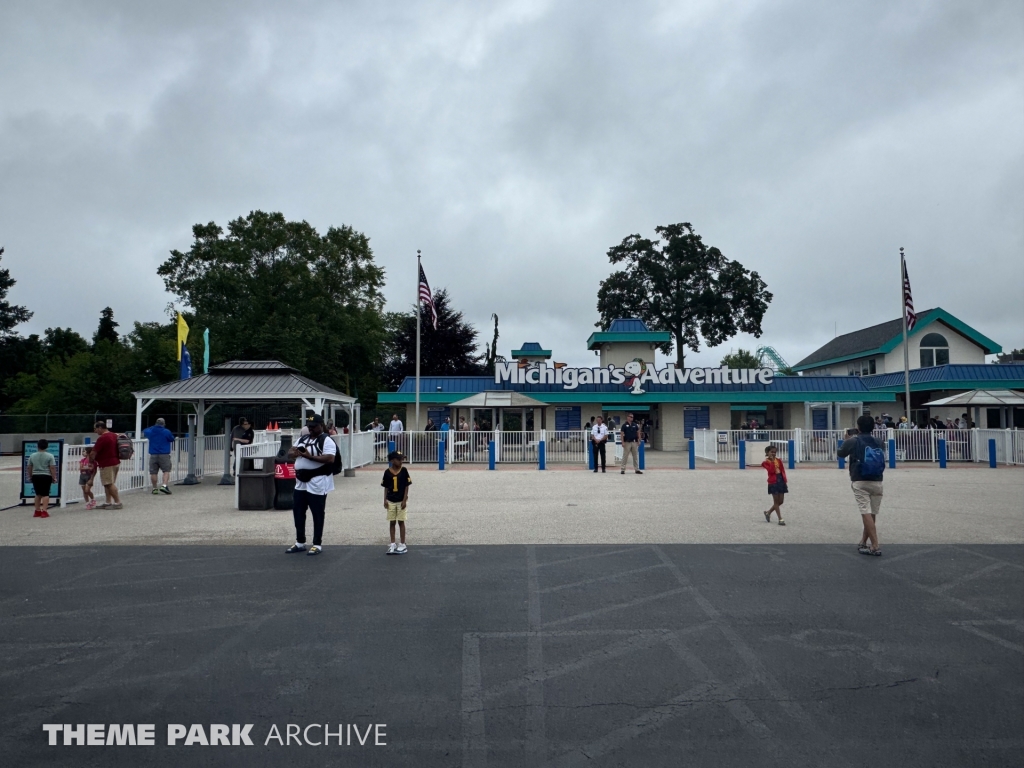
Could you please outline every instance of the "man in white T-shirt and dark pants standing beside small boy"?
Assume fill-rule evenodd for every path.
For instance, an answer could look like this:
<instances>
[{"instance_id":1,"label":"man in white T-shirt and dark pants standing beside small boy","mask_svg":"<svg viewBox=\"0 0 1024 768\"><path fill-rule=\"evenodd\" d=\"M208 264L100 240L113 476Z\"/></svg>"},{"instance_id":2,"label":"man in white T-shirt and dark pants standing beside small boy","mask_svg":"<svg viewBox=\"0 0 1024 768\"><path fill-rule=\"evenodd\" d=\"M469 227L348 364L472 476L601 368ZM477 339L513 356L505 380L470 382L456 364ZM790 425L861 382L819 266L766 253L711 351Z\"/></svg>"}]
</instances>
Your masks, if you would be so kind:
<instances>
[{"instance_id":1,"label":"man in white T-shirt and dark pants standing beside small boy","mask_svg":"<svg viewBox=\"0 0 1024 768\"><path fill-rule=\"evenodd\" d=\"M292 515L295 517L295 545L289 554L306 552L318 555L324 547L324 517L327 495L334 490L334 458L338 446L324 432L324 417L319 414L306 420L309 434L302 435L288 451L295 460L295 494ZM306 550L306 509L313 518L313 544Z\"/></svg>"}]
</instances>

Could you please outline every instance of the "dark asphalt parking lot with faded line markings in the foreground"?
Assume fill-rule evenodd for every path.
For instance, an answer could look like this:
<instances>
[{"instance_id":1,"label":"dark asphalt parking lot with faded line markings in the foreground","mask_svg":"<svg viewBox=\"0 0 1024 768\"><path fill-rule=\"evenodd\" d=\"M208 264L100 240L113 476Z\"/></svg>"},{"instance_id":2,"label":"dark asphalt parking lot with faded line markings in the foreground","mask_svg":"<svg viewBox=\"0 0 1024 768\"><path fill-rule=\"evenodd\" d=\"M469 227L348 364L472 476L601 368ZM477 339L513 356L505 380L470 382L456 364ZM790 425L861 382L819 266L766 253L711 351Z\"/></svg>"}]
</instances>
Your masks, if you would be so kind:
<instances>
[{"instance_id":1,"label":"dark asphalt parking lot with faded line markings in the foreground","mask_svg":"<svg viewBox=\"0 0 1024 768\"><path fill-rule=\"evenodd\" d=\"M0 756L1019 766L1022 605L1018 544L7 547ZM155 724L156 745L49 746L53 723ZM264 743L325 723L386 745ZM168 746L169 724L254 745Z\"/></svg>"}]
</instances>

